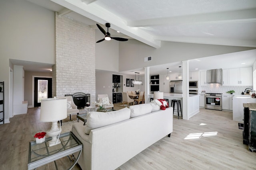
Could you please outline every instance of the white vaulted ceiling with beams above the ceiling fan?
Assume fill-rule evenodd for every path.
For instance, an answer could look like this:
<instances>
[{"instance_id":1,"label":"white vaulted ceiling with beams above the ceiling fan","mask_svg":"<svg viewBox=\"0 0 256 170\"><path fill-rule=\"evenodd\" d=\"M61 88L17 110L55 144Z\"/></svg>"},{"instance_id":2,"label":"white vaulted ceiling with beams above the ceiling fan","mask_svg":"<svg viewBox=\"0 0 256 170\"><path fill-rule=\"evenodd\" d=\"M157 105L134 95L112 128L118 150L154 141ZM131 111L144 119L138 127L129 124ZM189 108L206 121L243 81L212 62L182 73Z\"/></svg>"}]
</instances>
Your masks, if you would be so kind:
<instances>
[{"instance_id":1,"label":"white vaulted ceiling with beams above the ceiling fan","mask_svg":"<svg viewBox=\"0 0 256 170\"><path fill-rule=\"evenodd\" d=\"M155 48L161 41L256 47L256 0L28 1L95 29L96 23L109 22L120 31L111 31L113 37L137 39Z\"/></svg>"}]
</instances>

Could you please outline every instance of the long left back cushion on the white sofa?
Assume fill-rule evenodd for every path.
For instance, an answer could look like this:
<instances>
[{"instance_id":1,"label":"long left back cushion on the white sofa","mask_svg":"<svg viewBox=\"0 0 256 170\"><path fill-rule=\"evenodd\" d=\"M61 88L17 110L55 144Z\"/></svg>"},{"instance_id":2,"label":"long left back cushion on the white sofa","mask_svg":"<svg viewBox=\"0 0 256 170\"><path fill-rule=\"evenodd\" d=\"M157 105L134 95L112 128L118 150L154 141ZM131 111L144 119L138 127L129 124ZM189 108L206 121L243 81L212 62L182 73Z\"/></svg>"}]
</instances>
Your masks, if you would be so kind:
<instances>
[{"instance_id":1,"label":"long left back cushion on the white sofa","mask_svg":"<svg viewBox=\"0 0 256 170\"><path fill-rule=\"evenodd\" d=\"M92 129L130 119L130 113L131 110L127 107L110 112L89 112L87 114L87 125L85 128L85 133L89 135Z\"/></svg>"}]
</instances>

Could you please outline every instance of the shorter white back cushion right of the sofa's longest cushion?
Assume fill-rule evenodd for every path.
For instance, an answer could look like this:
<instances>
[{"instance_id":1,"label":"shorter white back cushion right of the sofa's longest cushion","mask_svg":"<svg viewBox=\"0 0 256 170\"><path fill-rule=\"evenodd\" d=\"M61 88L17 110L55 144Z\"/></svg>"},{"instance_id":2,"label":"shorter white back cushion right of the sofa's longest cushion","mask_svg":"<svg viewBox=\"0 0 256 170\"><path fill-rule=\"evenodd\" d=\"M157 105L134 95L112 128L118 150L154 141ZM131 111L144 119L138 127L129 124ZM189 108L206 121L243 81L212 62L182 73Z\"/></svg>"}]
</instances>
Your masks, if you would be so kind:
<instances>
[{"instance_id":1,"label":"shorter white back cushion right of the sofa's longest cushion","mask_svg":"<svg viewBox=\"0 0 256 170\"><path fill-rule=\"evenodd\" d=\"M150 103L138 104L138 105L130 106L129 108L131 109L131 118L144 115L147 113L151 113L153 109Z\"/></svg>"}]
</instances>

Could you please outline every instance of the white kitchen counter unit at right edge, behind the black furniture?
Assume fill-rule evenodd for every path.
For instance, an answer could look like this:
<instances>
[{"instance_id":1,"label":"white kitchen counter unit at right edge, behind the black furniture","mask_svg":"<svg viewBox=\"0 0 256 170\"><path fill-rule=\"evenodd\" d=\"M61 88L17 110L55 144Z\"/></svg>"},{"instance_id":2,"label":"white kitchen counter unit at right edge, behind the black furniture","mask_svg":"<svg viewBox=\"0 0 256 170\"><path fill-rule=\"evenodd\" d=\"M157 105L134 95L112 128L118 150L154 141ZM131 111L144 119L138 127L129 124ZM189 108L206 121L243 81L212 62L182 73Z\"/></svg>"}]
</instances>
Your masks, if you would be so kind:
<instances>
[{"instance_id":1,"label":"white kitchen counter unit at right edge, behind the black furniture","mask_svg":"<svg viewBox=\"0 0 256 170\"><path fill-rule=\"evenodd\" d=\"M250 95L235 95L233 97L233 121L243 122L244 106L243 103L256 103L256 98L251 98Z\"/></svg>"}]
</instances>

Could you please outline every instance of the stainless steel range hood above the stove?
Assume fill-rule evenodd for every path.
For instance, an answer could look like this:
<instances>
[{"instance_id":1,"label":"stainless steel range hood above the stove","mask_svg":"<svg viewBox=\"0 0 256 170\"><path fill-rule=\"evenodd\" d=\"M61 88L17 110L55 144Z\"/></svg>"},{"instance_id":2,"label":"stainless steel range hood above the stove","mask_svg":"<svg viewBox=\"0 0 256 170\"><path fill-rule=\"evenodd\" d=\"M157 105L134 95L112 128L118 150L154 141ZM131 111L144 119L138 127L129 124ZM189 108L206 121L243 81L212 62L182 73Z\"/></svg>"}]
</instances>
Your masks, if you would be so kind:
<instances>
[{"instance_id":1,"label":"stainless steel range hood above the stove","mask_svg":"<svg viewBox=\"0 0 256 170\"><path fill-rule=\"evenodd\" d=\"M222 69L207 70L206 71L206 82L222 84Z\"/></svg>"}]
</instances>

